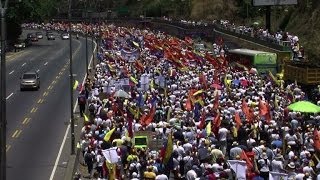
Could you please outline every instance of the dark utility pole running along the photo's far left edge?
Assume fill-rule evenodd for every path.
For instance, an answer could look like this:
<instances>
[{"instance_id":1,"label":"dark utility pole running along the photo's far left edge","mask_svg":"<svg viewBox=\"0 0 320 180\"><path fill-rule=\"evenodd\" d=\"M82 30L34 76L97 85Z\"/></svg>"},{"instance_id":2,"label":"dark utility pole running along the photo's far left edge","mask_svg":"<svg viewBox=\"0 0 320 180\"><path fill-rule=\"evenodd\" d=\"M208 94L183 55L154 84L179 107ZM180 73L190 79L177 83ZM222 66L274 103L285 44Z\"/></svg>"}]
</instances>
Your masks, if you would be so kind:
<instances>
[{"instance_id":1,"label":"dark utility pole running along the photo's far left edge","mask_svg":"<svg viewBox=\"0 0 320 180\"><path fill-rule=\"evenodd\" d=\"M2 5L0 1L0 13L1 13L1 121L0 121L0 180L6 180L7 177L7 108L6 108L6 10L8 7L8 0Z\"/></svg>"}]
</instances>

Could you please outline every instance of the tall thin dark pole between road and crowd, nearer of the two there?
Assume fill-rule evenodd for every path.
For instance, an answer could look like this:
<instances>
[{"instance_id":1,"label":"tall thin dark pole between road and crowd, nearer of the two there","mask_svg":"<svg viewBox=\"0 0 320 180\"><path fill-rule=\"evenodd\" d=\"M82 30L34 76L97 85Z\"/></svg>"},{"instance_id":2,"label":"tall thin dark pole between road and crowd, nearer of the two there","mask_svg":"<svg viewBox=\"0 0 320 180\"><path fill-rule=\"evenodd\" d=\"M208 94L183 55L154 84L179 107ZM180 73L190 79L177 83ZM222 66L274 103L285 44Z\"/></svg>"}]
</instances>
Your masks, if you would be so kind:
<instances>
[{"instance_id":1,"label":"tall thin dark pole between road and crowd, nearer of the two there","mask_svg":"<svg viewBox=\"0 0 320 180\"><path fill-rule=\"evenodd\" d=\"M70 113L71 113L71 155L75 154L75 135L74 135L74 114L73 114L73 71L72 71L72 24L71 24L71 4L72 0L69 0L69 50L70 50L70 64L69 64L69 76L70 76Z\"/></svg>"}]
</instances>

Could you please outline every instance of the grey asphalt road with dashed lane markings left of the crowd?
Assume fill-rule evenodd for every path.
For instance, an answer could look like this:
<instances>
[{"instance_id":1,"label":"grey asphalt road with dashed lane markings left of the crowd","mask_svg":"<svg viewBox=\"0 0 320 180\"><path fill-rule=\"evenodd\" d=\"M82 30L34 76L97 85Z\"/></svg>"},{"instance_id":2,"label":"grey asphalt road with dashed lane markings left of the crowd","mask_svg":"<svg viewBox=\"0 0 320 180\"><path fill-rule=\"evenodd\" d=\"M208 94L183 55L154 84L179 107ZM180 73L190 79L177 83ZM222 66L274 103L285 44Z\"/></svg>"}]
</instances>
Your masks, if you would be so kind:
<instances>
[{"instance_id":1,"label":"grey asphalt road with dashed lane markings left of the crowd","mask_svg":"<svg viewBox=\"0 0 320 180\"><path fill-rule=\"evenodd\" d=\"M54 168L70 120L69 40L56 36L54 41L41 39L7 59L8 180L49 179ZM91 45L88 41L89 57ZM72 46L73 73L81 83L85 39L74 39ZM31 70L40 75L40 89L21 92L19 78ZM70 154L70 148L63 153Z\"/></svg>"}]
</instances>

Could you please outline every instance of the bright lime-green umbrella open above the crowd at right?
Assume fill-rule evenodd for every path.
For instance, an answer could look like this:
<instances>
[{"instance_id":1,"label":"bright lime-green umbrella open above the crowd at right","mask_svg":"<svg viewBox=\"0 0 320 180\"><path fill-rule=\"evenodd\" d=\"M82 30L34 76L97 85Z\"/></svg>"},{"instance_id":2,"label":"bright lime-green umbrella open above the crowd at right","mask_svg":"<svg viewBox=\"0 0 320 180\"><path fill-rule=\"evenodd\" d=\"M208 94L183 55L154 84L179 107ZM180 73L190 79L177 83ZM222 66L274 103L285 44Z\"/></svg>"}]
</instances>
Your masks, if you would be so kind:
<instances>
[{"instance_id":1,"label":"bright lime-green umbrella open above the crowd at right","mask_svg":"<svg viewBox=\"0 0 320 180\"><path fill-rule=\"evenodd\" d=\"M298 101L292 103L288 106L292 111L304 112L304 113L318 113L320 112L320 107L309 102L309 101Z\"/></svg>"}]
</instances>

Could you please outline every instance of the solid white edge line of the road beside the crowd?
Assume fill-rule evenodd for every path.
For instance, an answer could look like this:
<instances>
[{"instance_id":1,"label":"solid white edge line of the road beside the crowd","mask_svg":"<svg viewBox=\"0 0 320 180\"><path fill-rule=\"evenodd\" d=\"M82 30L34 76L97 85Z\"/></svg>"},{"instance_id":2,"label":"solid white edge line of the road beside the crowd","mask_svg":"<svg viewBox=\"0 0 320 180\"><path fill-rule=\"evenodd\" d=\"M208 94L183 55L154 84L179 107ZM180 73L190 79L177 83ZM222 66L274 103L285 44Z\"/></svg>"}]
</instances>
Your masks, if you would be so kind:
<instances>
[{"instance_id":1,"label":"solid white edge line of the road beside the crowd","mask_svg":"<svg viewBox=\"0 0 320 180\"><path fill-rule=\"evenodd\" d=\"M97 43L94 42L94 44L95 44L95 46L94 46L94 51L95 51L96 48L97 48ZM92 59L93 59L93 55L91 56L91 59L90 59L89 64L92 63ZM84 76L84 78L83 78L82 86L84 85L84 82L85 82L86 78L87 78L87 74L86 74L86 75ZM78 101L75 102L75 105L74 105L74 108L73 108L73 112L76 111L77 106L78 106ZM65 132L65 134L64 134L64 137L63 137L63 140L62 140L62 143L61 143L61 146L60 146L60 149L59 149L59 152L58 152L56 161L55 161L55 163L54 163L54 166L53 166L53 169L52 169L52 172L51 172L51 175L50 175L49 180L53 180L54 174L56 173L56 170L57 170L57 167L58 167L58 163L59 163L59 160L60 160L60 156L61 156L61 153L62 153L64 144L66 143L67 136L68 136L68 134L69 134L69 129L70 129L70 124L68 125L68 127L67 127L67 129L66 129L66 132Z\"/></svg>"}]
</instances>

